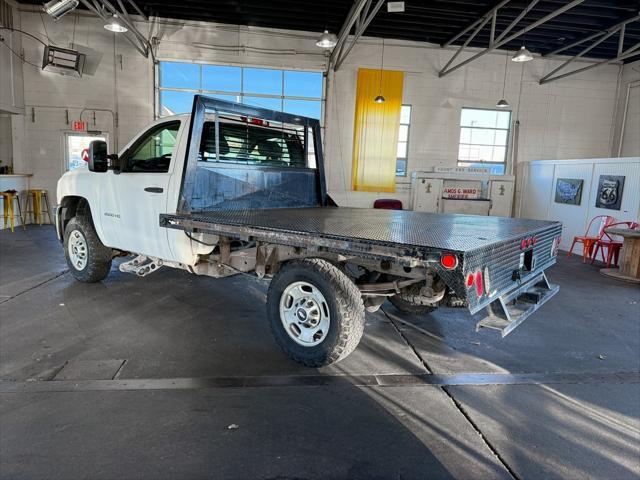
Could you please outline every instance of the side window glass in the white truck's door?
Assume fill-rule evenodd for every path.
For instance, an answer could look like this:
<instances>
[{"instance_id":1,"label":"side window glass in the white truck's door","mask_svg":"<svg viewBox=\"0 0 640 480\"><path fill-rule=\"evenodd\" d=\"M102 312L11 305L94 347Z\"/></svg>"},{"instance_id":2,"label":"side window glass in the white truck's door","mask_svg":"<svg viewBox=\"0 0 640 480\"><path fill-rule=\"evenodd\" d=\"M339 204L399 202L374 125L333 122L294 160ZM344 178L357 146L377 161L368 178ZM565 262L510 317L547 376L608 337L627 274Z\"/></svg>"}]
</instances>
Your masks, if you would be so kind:
<instances>
[{"instance_id":1,"label":"side window glass in the white truck's door","mask_svg":"<svg viewBox=\"0 0 640 480\"><path fill-rule=\"evenodd\" d=\"M176 147L180 122L157 125L131 147L125 172L166 173Z\"/></svg>"}]
</instances>

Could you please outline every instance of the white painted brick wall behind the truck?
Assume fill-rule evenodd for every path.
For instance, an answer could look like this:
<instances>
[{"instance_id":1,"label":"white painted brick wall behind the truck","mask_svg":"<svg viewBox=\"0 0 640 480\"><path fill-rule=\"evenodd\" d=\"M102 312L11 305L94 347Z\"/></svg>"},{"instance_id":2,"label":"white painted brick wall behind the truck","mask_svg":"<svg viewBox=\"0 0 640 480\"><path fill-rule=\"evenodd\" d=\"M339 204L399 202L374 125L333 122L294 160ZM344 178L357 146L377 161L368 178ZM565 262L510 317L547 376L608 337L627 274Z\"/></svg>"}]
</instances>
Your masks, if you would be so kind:
<instances>
[{"instance_id":1,"label":"white painted brick wall behind the truck","mask_svg":"<svg viewBox=\"0 0 640 480\"><path fill-rule=\"evenodd\" d=\"M65 16L56 23L46 16L44 20L51 40L68 47L74 16ZM39 14L22 11L20 21L23 29L44 38ZM314 70L323 70L326 64L325 55L314 45L317 33L166 21L158 25L154 34L161 38L157 51L161 60ZM75 27L75 42L102 55L95 75L74 79L24 66L26 112L22 122L16 122L24 125L24 139L21 145L14 146L14 153L22 150L23 158L16 159L16 163L22 163L25 171L34 174L34 186L47 188L51 194L63 172L62 136L70 129L65 123L65 109L69 109L71 120L79 118L82 108L89 109L83 120L89 120L91 128L107 131L119 146L151 121L154 114L154 69L149 59L121 36L114 37L104 30L99 19L84 14L79 15ZM27 59L39 63L41 46L24 43ZM502 96L505 53L486 55L439 78L437 72L451 54L450 50L424 44L386 43L385 68L406 72L404 101L413 106L409 170L454 165L460 108L493 107ZM541 59L524 65L508 62L505 96L514 110L514 119L519 107L519 161L608 156L619 67L605 66L538 85L537 80L557 63ZM408 200L406 184L399 185L396 195L350 192L356 72L358 67L379 66L379 42L364 38L328 82L325 154L329 188L337 200L354 205L369 206L372 199L381 195ZM520 95L521 68L524 74ZM117 112L116 131L110 114L105 112L96 112L94 127L92 108ZM31 120L32 109L35 122Z\"/></svg>"}]
</instances>

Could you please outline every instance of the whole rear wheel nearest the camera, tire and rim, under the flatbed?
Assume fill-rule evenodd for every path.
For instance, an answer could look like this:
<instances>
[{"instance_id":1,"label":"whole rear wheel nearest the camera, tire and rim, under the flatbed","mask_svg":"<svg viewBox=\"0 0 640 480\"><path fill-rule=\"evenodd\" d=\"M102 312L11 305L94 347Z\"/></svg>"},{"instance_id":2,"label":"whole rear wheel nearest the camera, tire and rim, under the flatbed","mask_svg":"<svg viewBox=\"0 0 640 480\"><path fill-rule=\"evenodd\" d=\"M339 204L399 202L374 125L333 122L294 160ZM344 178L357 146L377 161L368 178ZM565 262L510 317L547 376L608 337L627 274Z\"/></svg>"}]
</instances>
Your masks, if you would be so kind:
<instances>
[{"instance_id":1,"label":"whole rear wheel nearest the camera, tire and rim, under the flatbed","mask_svg":"<svg viewBox=\"0 0 640 480\"><path fill-rule=\"evenodd\" d=\"M364 331L360 291L337 267L317 258L286 263L273 277L267 316L280 348L308 367L347 357Z\"/></svg>"}]
</instances>

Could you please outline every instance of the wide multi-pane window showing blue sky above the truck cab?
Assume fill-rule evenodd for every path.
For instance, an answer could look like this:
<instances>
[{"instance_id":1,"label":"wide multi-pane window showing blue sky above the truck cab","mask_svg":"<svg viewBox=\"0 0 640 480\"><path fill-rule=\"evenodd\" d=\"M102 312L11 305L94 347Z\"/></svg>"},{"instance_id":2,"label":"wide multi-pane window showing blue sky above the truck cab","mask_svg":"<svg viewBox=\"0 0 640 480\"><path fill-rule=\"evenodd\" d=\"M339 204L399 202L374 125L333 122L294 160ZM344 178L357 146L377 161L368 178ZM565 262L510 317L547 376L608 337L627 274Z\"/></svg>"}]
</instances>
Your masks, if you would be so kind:
<instances>
[{"instance_id":1,"label":"wide multi-pane window showing blue sky above the truck cab","mask_svg":"<svg viewBox=\"0 0 640 480\"><path fill-rule=\"evenodd\" d=\"M196 93L321 118L321 72L160 62L160 116L187 113Z\"/></svg>"}]
</instances>

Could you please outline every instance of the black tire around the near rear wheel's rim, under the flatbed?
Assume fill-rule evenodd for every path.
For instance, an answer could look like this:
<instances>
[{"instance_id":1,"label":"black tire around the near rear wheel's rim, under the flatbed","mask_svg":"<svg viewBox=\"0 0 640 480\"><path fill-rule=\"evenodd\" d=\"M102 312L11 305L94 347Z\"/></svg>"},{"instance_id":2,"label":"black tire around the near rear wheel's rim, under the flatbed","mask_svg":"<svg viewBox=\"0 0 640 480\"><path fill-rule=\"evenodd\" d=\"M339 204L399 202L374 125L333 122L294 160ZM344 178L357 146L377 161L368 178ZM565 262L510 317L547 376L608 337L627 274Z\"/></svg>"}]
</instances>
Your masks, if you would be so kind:
<instances>
[{"instance_id":1,"label":"black tire around the near rear wheel's rim, under the flatbed","mask_svg":"<svg viewBox=\"0 0 640 480\"><path fill-rule=\"evenodd\" d=\"M297 343L280 319L280 300L285 289L295 282L311 284L326 301L330 322L326 336L318 345ZM267 316L273 336L284 353L307 367L330 365L353 352L364 332L364 315L364 304L356 285L326 260L314 258L286 263L269 285Z\"/></svg>"}]
</instances>

